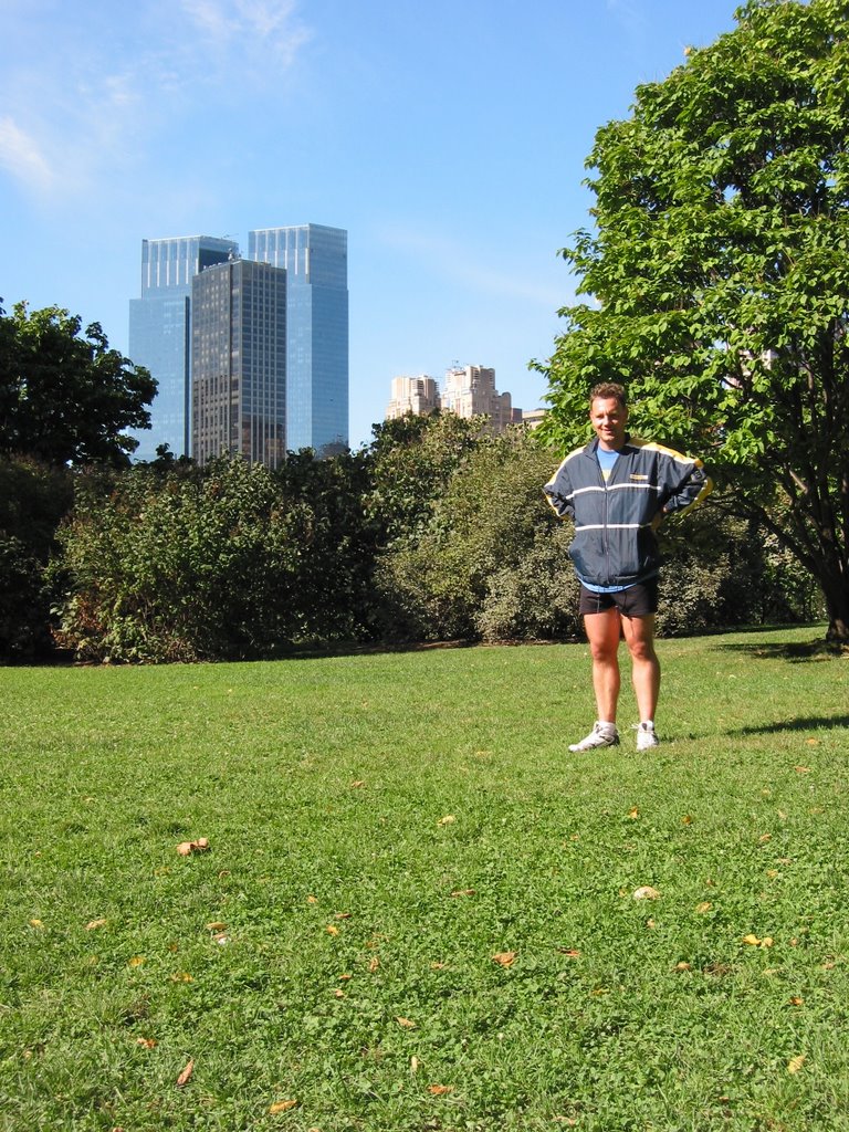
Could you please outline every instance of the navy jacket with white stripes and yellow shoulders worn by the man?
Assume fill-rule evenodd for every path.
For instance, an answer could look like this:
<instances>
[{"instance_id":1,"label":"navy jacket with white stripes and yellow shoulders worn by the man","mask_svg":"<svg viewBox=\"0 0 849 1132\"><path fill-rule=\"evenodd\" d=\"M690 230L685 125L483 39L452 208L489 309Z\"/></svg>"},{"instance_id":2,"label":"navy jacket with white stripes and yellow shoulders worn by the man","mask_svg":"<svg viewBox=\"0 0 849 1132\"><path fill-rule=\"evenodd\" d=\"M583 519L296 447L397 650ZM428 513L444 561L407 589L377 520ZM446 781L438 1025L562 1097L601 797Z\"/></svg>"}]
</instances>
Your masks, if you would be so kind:
<instances>
[{"instance_id":1,"label":"navy jacket with white stripes and yellow shoulders worn by the man","mask_svg":"<svg viewBox=\"0 0 849 1132\"><path fill-rule=\"evenodd\" d=\"M590 585L633 585L658 572L652 521L685 512L713 488L701 460L660 444L626 437L604 482L592 440L564 460L543 491L554 509L575 522L569 557Z\"/></svg>"}]
</instances>

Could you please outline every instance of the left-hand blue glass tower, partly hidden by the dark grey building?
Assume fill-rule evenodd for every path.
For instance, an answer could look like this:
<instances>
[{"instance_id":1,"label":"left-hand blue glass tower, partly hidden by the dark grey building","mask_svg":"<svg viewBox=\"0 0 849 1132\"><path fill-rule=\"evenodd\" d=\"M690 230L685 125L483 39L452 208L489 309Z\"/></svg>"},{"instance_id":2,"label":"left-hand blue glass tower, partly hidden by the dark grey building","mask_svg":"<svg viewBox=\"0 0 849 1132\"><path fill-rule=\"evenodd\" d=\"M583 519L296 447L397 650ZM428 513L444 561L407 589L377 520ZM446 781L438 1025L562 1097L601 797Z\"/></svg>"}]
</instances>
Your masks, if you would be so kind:
<instances>
[{"instance_id":1,"label":"left-hand blue glass tower, partly hidden by the dark grey building","mask_svg":"<svg viewBox=\"0 0 849 1132\"><path fill-rule=\"evenodd\" d=\"M209 235L142 241L142 298L130 299L129 355L149 369L158 389L149 430L134 434L136 460L153 460L161 444L175 456L191 452L191 281L238 251L232 240Z\"/></svg>"}]
</instances>

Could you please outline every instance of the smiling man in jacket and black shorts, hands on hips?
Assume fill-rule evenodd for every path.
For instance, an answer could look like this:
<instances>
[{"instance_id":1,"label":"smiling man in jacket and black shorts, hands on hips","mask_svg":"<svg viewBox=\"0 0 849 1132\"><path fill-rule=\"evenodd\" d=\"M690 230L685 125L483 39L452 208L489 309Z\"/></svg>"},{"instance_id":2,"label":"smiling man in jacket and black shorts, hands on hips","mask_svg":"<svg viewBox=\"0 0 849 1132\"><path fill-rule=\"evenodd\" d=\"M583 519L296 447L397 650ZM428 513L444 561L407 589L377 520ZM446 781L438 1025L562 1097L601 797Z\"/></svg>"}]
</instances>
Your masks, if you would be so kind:
<instances>
[{"instance_id":1,"label":"smiling man in jacket and black shorts, hands on hips","mask_svg":"<svg viewBox=\"0 0 849 1132\"><path fill-rule=\"evenodd\" d=\"M612 381L590 393L595 439L571 453L546 484L560 517L575 522L569 557L581 582L580 611L590 642L598 719L569 751L619 743L619 637L631 653L640 711L637 751L658 745L654 712L660 663L654 651L660 554L655 532L666 515L684 513L713 484L700 460L636 440L627 431L625 389Z\"/></svg>"}]
</instances>

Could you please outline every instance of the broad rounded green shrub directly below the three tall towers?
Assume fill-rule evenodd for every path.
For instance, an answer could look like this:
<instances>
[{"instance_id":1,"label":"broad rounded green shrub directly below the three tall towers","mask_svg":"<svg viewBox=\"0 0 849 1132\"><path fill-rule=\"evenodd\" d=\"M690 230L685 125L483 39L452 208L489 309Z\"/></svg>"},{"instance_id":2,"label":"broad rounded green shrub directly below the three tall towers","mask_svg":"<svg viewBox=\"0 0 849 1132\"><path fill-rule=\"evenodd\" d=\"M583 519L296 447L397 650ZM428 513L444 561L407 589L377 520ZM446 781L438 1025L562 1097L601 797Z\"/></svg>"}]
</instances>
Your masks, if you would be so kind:
<instances>
[{"instance_id":1,"label":"broad rounded green shrub directly below the three tall towers","mask_svg":"<svg viewBox=\"0 0 849 1132\"><path fill-rule=\"evenodd\" d=\"M108 498L83 482L60 532L70 592L58 637L94 660L273 655L298 635L311 517L238 460L165 478L134 469Z\"/></svg>"}]
</instances>

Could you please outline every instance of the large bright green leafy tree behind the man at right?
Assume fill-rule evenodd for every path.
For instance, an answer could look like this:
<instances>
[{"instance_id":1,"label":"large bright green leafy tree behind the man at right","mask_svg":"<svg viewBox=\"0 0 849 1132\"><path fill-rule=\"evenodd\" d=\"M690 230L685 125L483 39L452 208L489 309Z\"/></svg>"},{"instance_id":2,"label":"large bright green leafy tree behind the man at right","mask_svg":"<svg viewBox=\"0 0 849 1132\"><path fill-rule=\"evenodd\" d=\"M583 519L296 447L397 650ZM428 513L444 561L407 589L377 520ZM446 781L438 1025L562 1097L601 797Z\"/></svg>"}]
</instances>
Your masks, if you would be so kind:
<instances>
[{"instance_id":1,"label":"large bright green leafy tree behind the man at right","mask_svg":"<svg viewBox=\"0 0 849 1132\"><path fill-rule=\"evenodd\" d=\"M849 0L751 0L641 86L588 160L592 231L549 362L549 438L629 385L635 431L705 457L849 640Z\"/></svg>"}]
</instances>

